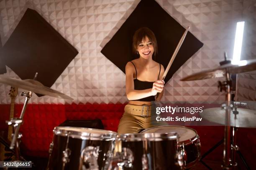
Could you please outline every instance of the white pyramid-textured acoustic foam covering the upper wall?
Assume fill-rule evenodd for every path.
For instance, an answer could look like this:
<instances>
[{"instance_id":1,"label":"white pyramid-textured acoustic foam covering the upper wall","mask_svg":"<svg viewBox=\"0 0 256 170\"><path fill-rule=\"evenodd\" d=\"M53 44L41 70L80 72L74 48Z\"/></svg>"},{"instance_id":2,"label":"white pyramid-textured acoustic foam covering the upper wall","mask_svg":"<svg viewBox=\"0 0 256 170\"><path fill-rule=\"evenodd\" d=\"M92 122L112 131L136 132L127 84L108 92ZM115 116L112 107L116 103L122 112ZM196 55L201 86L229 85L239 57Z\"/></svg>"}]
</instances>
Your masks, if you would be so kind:
<instances>
[{"instance_id":1,"label":"white pyramid-textured acoustic foam covering the upper wall","mask_svg":"<svg viewBox=\"0 0 256 170\"><path fill-rule=\"evenodd\" d=\"M0 34L8 40L26 9L44 17L79 54L51 87L74 101L33 95L31 103L125 103L125 75L100 53L138 4L138 0L1 0ZM247 7L242 0L157 0L157 2L204 46L174 74L165 85L163 101L224 100L217 81L209 79L181 82L189 74L217 67L224 51L232 56L236 21ZM255 20L255 19L254 19ZM252 23L255 24L255 23ZM254 30L255 31L255 30ZM254 39L255 40L255 39ZM251 48L253 49L253 47ZM170 54L171 56L172 54ZM7 68L5 74L18 76ZM40 73L39 73L40 74ZM31 77L33 78L33 77ZM10 86L0 85L0 104L10 103ZM16 103L23 103L17 97Z\"/></svg>"}]
</instances>

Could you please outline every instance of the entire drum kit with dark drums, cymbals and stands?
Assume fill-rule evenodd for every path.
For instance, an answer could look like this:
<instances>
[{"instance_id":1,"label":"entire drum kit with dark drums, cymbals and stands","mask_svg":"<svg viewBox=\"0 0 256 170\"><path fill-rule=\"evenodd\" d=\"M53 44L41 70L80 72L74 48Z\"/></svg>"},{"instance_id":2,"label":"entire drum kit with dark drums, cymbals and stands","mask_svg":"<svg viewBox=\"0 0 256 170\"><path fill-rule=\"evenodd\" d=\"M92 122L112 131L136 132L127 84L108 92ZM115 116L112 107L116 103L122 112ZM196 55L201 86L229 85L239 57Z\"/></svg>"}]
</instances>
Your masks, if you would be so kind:
<instances>
[{"instance_id":1,"label":"entire drum kit with dark drums, cymbals and stands","mask_svg":"<svg viewBox=\"0 0 256 170\"><path fill-rule=\"evenodd\" d=\"M215 69L198 72L182 79L182 81L215 77L226 79L219 82L220 90L226 92L224 110L210 108L205 109L201 114L205 119L225 125L223 169L236 166L234 159L238 150L236 127L253 127L256 117L256 111L234 108L232 105L230 74L252 70L256 70L256 60L243 60L236 65L225 62L224 65ZM7 121L8 125L13 125L15 128L10 145L12 149L15 146L19 147L16 145L17 137L20 137L18 131L32 92L67 100L72 99L61 92L45 87L35 79L18 80L0 76L0 83L28 90L28 92L22 92L26 98L20 117ZM235 111L231 113L231 110ZM216 113L214 118L210 116L212 112ZM54 137L49 147L50 156L47 166L49 170L187 169L194 166L201 158L197 131L183 126L159 126L143 130L141 133L119 135L108 130L55 127L53 133ZM115 151L118 143L121 144L121 149Z\"/></svg>"}]
</instances>

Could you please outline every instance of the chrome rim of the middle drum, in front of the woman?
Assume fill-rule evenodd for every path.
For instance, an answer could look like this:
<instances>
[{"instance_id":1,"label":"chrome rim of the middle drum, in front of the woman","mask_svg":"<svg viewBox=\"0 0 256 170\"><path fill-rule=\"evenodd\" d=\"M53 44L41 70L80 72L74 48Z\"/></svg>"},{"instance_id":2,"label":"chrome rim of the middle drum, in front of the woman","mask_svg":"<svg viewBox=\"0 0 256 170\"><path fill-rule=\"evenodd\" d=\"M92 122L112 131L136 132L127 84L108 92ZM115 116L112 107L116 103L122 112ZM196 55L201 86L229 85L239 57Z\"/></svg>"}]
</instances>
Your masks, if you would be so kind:
<instances>
[{"instance_id":1,"label":"chrome rim of the middle drum, in front of the woman","mask_svg":"<svg viewBox=\"0 0 256 170\"><path fill-rule=\"evenodd\" d=\"M178 140L179 134L173 133L125 133L119 134L118 140L122 141L161 141L161 140Z\"/></svg>"}]
</instances>

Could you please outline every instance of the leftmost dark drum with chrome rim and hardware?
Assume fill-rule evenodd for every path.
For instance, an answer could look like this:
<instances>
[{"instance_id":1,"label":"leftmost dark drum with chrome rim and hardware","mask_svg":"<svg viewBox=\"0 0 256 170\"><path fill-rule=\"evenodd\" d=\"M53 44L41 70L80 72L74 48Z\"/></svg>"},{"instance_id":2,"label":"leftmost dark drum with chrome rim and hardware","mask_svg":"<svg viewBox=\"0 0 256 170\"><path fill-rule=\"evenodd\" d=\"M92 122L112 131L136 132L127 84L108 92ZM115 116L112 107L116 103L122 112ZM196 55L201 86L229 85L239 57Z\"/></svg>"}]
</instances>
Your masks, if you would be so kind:
<instances>
[{"instance_id":1,"label":"leftmost dark drum with chrome rim and hardware","mask_svg":"<svg viewBox=\"0 0 256 170\"><path fill-rule=\"evenodd\" d=\"M103 170L113 154L116 133L108 130L55 127L48 170Z\"/></svg>"}]
</instances>

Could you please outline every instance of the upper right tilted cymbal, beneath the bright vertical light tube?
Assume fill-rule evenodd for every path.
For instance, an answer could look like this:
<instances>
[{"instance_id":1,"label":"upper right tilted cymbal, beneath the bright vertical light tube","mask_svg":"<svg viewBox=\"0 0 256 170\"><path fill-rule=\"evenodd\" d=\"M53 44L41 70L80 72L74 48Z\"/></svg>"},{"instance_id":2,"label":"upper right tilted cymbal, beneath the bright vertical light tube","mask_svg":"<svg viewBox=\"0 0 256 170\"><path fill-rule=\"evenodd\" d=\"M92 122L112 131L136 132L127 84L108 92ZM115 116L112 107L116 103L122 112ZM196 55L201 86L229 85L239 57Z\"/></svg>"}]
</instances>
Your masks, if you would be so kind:
<instances>
[{"instance_id":1,"label":"upper right tilted cymbal, beneath the bright vertical light tube","mask_svg":"<svg viewBox=\"0 0 256 170\"><path fill-rule=\"evenodd\" d=\"M225 77L226 71L230 74L256 70L256 59L241 60L238 64L225 64L219 67L197 72L181 79L181 81L203 80L207 78Z\"/></svg>"}]
</instances>

